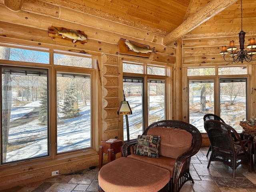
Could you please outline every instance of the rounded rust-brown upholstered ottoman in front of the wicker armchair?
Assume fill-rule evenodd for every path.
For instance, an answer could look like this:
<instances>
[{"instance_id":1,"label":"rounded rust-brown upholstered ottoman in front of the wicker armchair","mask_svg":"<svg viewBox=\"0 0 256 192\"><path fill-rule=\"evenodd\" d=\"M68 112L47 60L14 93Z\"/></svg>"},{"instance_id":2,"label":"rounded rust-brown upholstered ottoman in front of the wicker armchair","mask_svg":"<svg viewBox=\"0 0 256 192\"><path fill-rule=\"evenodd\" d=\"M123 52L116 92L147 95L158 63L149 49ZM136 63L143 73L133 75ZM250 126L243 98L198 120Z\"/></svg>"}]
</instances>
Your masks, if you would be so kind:
<instances>
[{"instance_id":1,"label":"rounded rust-brown upholstered ottoman in front of the wicker armchair","mask_svg":"<svg viewBox=\"0 0 256 192\"><path fill-rule=\"evenodd\" d=\"M98 181L100 192L164 192L168 191L170 172L121 157L100 169Z\"/></svg>"}]
</instances>

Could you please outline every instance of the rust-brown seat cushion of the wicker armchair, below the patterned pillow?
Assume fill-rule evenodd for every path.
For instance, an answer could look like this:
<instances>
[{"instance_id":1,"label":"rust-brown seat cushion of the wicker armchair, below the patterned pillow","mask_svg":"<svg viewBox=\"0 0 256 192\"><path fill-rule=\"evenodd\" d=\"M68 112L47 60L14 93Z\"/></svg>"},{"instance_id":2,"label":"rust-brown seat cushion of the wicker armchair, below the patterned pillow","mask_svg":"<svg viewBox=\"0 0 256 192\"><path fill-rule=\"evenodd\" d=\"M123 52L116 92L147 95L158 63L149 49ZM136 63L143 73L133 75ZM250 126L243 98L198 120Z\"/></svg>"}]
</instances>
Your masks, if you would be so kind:
<instances>
[{"instance_id":1,"label":"rust-brown seat cushion of the wicker armchair, below the patterned pillow","mask_svg":"<svg viewBox=\"0 0 256 192\"><path fill-rule=\"evenodd\" d=\"M151 165L164 168L170 172L171 178L173 176L174 166L176 162L176 159L174 158L169 158L165 156L159 156L158 158L151 158L151 157L141 156L136 154L128 155L127 158L131 158L134 160L142 161Z\"/></svg>"}]
</instances>

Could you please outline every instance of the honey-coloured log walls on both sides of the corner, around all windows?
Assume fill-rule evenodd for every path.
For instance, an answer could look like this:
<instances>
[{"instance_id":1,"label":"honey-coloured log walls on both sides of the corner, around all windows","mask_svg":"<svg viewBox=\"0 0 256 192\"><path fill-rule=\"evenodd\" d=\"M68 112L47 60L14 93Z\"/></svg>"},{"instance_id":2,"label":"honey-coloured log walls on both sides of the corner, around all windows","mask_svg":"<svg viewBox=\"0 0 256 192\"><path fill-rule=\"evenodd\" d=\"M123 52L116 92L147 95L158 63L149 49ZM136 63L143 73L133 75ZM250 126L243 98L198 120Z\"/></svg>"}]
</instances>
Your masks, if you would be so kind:
<instances>
[{"instance_id":1,"label":"honey-coloured log walls on both sides of the corner, around all windows","mask_svg":"<svg viewBox=\"0 0 256 192\"><path fill-rule=\"evenodd\" d=\"M59 6L54 5L57 1ZM33 165L25 165L17 168L0 168L0 188L6 189L17 185L36 182L51 177L52 170L60 170L63 174L86 169L98 165L98 147L100 141L118 137L123 139L122 116L116 114L118 105L122 100L122 72L120 69L122 60L134 62L147 62L156 65L170 65L175 68L172 74L174 90L170 95L170 119L181 119L188 122L188 85L186 78L187 67L207 66L235 66L234 63L226 63L218 54L222 45L228 45L230 40L236 40L236 33L225 37L227 34L186 34L178 42L179 50L175 50L176 42L169 46L163 46L164 36L157 31L141 30L135 27L112 22L112 18L97 17L101 12L94 12L85 6L64 7L60 0L10 0L12 4L4 4L0 0L0 43L28 45L39 48L49 48L70 52L80 52L97 56L97 97L98 97L98 124L94 149L86 154L63 156L61 159L37 162ZM15 4L17 2L23 3ZM43 3L43 4L42 4ZM15 10L15 11L14 11ZM93 14L92 14L93 12ZM95 16L93 16L95 15ZM73 44L56 42L48 36L48 28L52 26L65 27L83 31L88 40L85 44ZM255 32L247 32L250 38ZM156 53L150 54L150 58L120 55L118 41L122 39L132 40L140 44L155 47ZM181 45L182 44L182 45ZM178 68L177 68L178 67ZM250 63L250 100L249 115L256 116L256 65ZM181 77L182 76L182 77ZM181 96L182 95L182 96ZM178 97L178 98L177 98ZM174 102L176 100L176 102ZM175 104L176 109L174 110ZM182 116L181 116L182 114ZM204 138L203 144L207 143ZM119 154L120 156L120 154ZM106 156L104 157L106 163Z\"/></svg>"}]
</instances>

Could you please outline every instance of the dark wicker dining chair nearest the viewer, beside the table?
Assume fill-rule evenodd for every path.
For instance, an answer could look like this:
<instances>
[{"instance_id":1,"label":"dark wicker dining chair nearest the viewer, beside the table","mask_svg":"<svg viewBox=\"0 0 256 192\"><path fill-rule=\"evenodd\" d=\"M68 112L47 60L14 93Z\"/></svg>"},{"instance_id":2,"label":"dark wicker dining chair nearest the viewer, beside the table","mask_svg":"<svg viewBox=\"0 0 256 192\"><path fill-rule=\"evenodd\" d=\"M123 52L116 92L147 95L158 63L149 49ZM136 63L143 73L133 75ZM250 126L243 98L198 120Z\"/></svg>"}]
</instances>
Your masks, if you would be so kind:
<instances>
[{"instance_id":1,"label":"dark wicker dining chair nearest the viewer, beside the table","mask_svg":"<svg viewBox=\"0 0 256 192\"><path fill-rule=\"evenodd\" d=\"M235 170L240 164L248 164L248 171L252 171L252 141L241 140L234 128L218 120L207 120L204 122L211 146L212 154L207 168L212 161L220 161ZM235 142L234 137L238 142Z\"/></svg>"}]
</instances>

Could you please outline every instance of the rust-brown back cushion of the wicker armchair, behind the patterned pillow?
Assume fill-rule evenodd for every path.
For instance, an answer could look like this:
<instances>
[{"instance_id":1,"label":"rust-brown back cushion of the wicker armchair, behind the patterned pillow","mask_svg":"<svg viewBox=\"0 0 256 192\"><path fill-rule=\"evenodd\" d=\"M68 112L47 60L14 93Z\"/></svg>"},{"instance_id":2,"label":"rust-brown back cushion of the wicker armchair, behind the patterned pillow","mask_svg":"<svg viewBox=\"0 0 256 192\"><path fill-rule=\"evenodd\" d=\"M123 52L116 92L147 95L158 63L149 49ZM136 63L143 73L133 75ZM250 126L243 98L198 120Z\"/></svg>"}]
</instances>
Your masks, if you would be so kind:
<instances>
[{"instance_id":1,"label":"rust-brown back cushion of the wicker armchair, behind the patterned pillow","mask_svg":"<svg viewBox=\"0 0 256 192\"><path fill-rule=\"evenodd\" d=\"M186 130L154 127L148 130L148 135L161 137L159 155L177 158L188 151L192 144L192 135Z\"/></svg>"}]
</instances>

